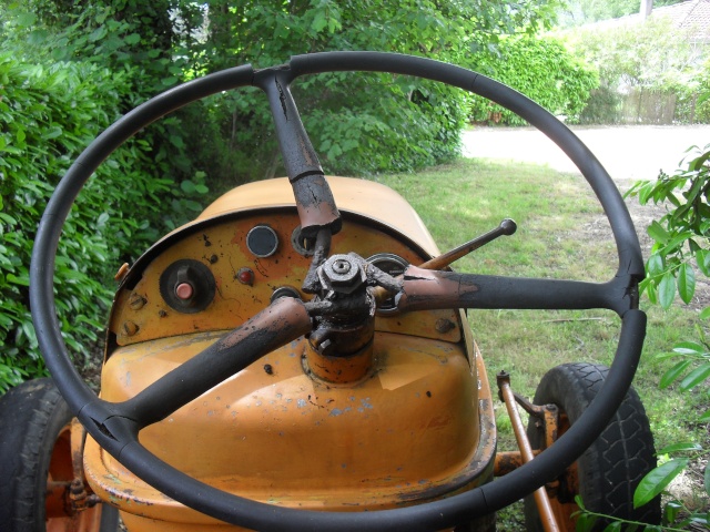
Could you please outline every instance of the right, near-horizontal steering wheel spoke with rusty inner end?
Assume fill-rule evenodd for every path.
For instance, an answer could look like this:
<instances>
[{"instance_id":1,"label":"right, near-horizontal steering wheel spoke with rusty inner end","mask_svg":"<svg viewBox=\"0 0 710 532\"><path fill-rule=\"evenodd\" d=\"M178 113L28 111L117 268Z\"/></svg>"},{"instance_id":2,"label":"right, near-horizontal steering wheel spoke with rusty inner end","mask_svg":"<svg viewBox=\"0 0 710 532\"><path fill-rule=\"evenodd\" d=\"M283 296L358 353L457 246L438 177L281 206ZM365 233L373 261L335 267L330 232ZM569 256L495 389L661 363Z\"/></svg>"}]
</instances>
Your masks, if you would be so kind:
<instances>
[{"instance_id":1,"label":"right, near-horizontal steering wheel spoke with rusty inner end","mask_svg":"<svg viewBox=\"0 0 710 532\"><path fill-rule=\"evenodd\" d=\"M620 316L638 307L637 280L619 275L608 283L517 278L438 272L409 266L397 294L402 311L439 308L590 309Z\"/></svg>"}]
</instances>

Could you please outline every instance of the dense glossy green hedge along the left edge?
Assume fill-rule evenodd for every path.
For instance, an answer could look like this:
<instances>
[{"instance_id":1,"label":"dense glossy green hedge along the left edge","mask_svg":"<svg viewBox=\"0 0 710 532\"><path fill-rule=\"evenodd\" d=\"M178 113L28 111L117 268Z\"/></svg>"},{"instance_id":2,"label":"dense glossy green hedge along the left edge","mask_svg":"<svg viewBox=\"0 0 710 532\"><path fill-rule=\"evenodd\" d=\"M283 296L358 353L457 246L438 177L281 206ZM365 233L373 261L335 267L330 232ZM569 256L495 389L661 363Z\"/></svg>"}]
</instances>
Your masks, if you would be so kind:
<instances>
[{"instance_id":1,"label":"dense glossy green hedge along the left edge","mask_svg":"<svg viewBox=\"0 0 710 532\"><path fill-rule=\"evenodd\" d=\"M54 185L118 117L113 113L134 76L79 62L29 64L0 50L0 392L45 374L28 300L34 232ZM65 226L55 291L62 331L80 367L97 352L120 262L200 207L176 200L179 187L161 176L165 168L153 155L145 139L116 151L90 180ZM193 195L205 191L186 183ZM168 219L151 214L165 197L174 204Z\"/></svg>"}]
</instances>

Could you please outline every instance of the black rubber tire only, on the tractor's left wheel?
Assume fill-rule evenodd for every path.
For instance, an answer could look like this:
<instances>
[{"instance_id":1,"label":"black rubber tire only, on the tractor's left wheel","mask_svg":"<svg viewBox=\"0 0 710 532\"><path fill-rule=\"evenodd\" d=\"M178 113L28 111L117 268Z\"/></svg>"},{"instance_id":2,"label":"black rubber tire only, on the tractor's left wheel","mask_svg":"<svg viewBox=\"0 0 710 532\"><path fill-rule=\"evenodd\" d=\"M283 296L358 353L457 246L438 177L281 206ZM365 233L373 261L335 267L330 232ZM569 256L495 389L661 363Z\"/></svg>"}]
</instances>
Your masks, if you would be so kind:
<instances>
[{"instance_id":1,"label":"black rubber tire only, on the tractor's left wheel","mask_svg":"<svg viewBox=\"0 0 710 532\"><path fill-rule=\"evenodd\" d=\"M0 397L0 523L8 532L43 532L44 497L54 442L72 413L51 379L23 382ZM102 504L101 532L119 513Z\"/></svg>"}]
</instances>

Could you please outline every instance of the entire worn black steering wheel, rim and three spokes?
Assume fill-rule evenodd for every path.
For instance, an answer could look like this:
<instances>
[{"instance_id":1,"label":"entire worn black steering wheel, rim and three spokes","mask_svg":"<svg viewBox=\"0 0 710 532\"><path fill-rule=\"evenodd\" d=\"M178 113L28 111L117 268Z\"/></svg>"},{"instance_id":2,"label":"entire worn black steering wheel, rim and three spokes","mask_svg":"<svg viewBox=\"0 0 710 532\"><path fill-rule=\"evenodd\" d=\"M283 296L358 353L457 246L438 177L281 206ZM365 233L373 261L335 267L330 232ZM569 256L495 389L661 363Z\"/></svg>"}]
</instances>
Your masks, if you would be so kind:
<instances>
[{"instance_id":1,"label":"entire worn black steering wheel, rim and three spokes","mask_svg":"<svg viewBox=\"0 0 710 532\"><path fill-rule=\"evenodd\" d=\"M119 145L159 117L221 91L253 85L271 103L303 236L316 245L312 270L325 262L332 234L341 229L337 207L315 150L303 127L290 85L298 76L371 71L425 78L485 96L536 126L570 157L591 185L609 219L619 267L607 283L457 274L410 266L386 288L398 309L517 308L615 310L621 332L609 377L581 418L528 464L495 482L419 505L371 512L318 512L244 499L191 478L161 461L138 434L267 352L310 332L328 305L280 298L244 325L130 400L98 398L73 367L62 340L53 296L57 245L79 191ZM320 247L318 247L320 246ZM31 263L31 307L41 350L71 410L99 444L142 480L200 512L254 530L430 531L499 510L552 481L604 430L631 385L646 331L638 309L643 260L633 224L613 182L591 152L550 113L510 88L476 72L428 59L378 52L326 52L293 57L285 65L224 70L169 90L105 130L74 162L42 216ZM308 279L306 279L308 282Z\"/></svg>"}]
</instances>

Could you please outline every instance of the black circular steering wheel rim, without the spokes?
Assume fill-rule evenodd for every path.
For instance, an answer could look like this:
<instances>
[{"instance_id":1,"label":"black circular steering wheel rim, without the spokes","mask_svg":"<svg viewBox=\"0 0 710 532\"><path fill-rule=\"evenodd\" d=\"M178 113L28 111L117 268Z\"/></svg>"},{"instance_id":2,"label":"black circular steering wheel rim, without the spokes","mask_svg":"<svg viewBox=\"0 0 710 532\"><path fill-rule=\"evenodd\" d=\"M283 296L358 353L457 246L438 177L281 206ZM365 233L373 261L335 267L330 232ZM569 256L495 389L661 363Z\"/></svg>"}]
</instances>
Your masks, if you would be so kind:
<instances>
[{"instance_id":1,"label":"black circular steering wheel rim, without the spokes","mask_svg":"<svg viewBox=\"0 0 710 532\"><path fill-rule=\"evenodd\" d=\"M128 113L104 131L74 162L52 195L38 228L30 267L30 299L40 348L70 408L97 441L144 481L173 499L223 521L255 530L440 530L508 505L571 464L601 432L631 385L640 357L646 317L631 308L622 319L609 378L580 420L550 450L496 482L420 505L372 512L317 512L274 507L232 495L192 479L142 448L136 432L118 423L113 436L103 427L116 421L84 385L62 340L53 296L54 258L62 225L81 187L119 145L161 116L216 92L258 83L268 72L290 80L329 71L376 71L440 81L487 98L527 120L550 137L577 165L609 218L617 252L617 276L643 276L633 224L616 185L591 152L542 108L518 92L476 72L424 58L379 52L324 52L298 55L286 65L254 71L229 69L166 91ZM121 431L125 437L121 436ZM118 434L118 438L116 438Z\"/></svg>"}]
</instances>

